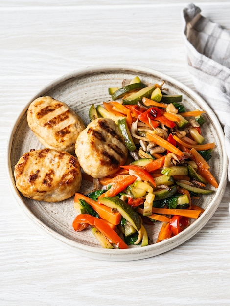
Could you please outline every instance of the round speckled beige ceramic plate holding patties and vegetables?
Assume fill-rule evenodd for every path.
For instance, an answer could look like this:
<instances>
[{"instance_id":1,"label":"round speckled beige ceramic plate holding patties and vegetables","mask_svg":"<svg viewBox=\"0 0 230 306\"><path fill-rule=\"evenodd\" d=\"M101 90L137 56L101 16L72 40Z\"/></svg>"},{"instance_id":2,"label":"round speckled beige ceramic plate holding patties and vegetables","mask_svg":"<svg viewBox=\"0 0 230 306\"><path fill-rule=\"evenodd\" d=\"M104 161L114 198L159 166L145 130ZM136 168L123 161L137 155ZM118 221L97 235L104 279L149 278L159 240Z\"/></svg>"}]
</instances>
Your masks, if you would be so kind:
<instances>
[{"instance_id":1,"label":"round speckled beige ceramic plate holding patties and vegetables","mask_svg":"<svg viewBox=\"0 0 230 306\"><path fill-rule=\"evenodd\" d=\"M147 85L165 82L171 94L182 94L186 110L205 110L207 119L204 137L206 142L215 142L216 148L210 160L210 169L219 188L208 196L202 196L197 205L205 212L183 232L168 240L152 243L148 246L132 246L129 249L104 249L92 235L90 229L75 232L72 221L77 213L73 207L73 197L58 203L46 203L23 197L17 190L14 180L14 166L23 153L31 149L42 149L29 129L26 113L29 104L41 96L51 96L65 102L89 123L89 109L92 104L99 105L103 101L111 100L109 87L121 87L123 80L131 80L139 76ZM25 214L43 233L71 251L80 255L100 260L129 261L148 258L169 251L194 236L212 217L224 194L227 182L227 156L225 153L224 134L219 121L207 103L194 91L173 78L158 71L139 66L94 66L84 70L75 71L55 80L34 96L16 120L8 143L8 175L10 185L16 200ZM82 191L89 188L89 183L83 180ZM157 223L148 229L151 241L156 239ZM160 222L159 222L160 223ZM160 225L159 225L160 226ZM156 240L155 240L156 241Z\"/></svg>"}]
</instances>

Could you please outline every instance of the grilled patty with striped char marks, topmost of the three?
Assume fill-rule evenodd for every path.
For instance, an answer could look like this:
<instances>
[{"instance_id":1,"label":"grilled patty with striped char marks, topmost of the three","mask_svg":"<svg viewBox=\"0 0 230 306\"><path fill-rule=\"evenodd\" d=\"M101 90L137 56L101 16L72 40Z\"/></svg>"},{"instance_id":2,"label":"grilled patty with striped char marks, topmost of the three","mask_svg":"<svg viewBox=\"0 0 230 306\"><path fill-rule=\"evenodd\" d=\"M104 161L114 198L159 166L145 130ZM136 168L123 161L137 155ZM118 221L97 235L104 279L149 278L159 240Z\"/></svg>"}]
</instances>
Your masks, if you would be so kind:
<instances>
[{"instance_id":1,"label":"grilled patty with striped char marks, topmost of the three","mask_svg":"<svg viewBox=\"0 0 230 306\"><path fill-rule=\"evenodd\" d=\"M51 97L34 100L27 111L30 129L46 147L74 153L79 133L85 129L83 120L69 106Z\"/></svg>"}]
</instances>

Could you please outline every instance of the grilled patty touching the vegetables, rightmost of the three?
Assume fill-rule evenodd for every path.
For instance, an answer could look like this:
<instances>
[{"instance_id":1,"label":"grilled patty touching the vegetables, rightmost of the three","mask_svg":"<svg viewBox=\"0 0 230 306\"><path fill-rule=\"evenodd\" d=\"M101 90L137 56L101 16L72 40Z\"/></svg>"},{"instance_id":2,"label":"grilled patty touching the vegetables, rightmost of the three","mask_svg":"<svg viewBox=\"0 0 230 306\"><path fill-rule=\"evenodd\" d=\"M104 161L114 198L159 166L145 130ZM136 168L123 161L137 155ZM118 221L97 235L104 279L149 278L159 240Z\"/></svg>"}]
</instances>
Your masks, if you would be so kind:
<instances>
[{"instance_id":1,"label":"grilled patty touching the vegetables, rightmost of the three","mask_svg":"<svg viewBox=\"0 0 230 306\"><path fill-rule=\"evenodd\" d=\"M84 172L100 178L114 174L126 161L128 150L115 122L98 118L79 134L75 153Z\"/></svg>"}]
</instances>

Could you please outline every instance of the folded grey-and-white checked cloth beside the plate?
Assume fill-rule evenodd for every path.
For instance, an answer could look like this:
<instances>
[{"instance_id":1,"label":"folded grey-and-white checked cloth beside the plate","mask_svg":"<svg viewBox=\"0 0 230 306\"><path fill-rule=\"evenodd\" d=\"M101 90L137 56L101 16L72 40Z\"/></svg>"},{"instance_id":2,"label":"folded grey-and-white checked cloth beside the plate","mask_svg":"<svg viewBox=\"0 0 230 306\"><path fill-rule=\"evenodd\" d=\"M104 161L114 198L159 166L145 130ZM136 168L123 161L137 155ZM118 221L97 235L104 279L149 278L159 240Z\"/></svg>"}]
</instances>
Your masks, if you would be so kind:
<instances>
[{"instance_id":1,"label":"folded grey-and-white checked cloth beside the plate","mask_svg":"<svg viewBox=\"0 0 230 306\"><path fill-rule=\"evenodd\" d=\"M223 127L230 181L230 31L200 12L192 3L183 10L188 69L197 92Z\"/></svg>"}]
</instances>

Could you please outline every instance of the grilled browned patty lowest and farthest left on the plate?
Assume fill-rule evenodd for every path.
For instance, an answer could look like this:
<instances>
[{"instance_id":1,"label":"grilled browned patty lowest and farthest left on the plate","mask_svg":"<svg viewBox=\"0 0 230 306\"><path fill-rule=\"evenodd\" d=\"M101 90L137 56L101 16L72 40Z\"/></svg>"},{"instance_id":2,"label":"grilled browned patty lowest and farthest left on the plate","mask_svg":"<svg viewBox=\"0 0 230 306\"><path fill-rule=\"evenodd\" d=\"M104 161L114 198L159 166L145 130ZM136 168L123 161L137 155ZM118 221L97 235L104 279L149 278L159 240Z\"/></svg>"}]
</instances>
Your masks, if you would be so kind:
<instances>
[{"instance_id":1,"label":"grilled browned patty lowest and farthest left on the plate","mask_svg":"<svg viewBox=\"0 0 230 306\"><path fill-rule=\"evenodd\" d=\"M78 160L65 151L54 149L24 153L15 166L16 187L38 201L59 202L80 188L82 175Z\"/></svg>"}]
</instances>

